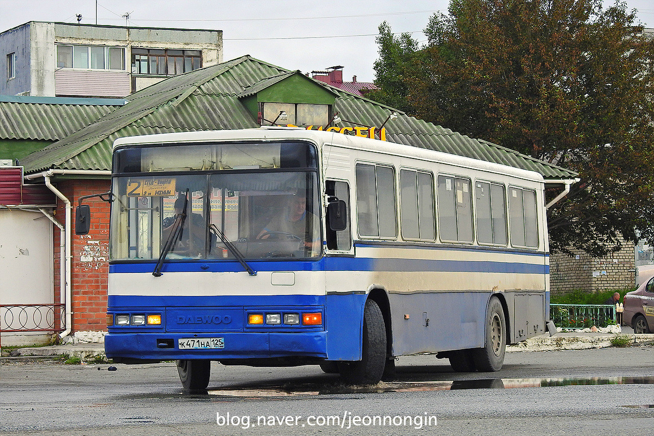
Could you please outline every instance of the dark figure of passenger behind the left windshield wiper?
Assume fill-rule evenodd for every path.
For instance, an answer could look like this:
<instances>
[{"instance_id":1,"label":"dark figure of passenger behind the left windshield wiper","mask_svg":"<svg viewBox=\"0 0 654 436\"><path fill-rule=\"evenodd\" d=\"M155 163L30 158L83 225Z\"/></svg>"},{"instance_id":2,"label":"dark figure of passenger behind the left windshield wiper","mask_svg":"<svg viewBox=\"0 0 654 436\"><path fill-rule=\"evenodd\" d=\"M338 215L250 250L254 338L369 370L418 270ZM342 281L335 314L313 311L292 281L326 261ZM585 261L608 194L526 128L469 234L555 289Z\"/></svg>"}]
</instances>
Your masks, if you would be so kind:
<instances>
[{"instance_id":1,"label":"dark figure of passenger behind the left windshield wiper","mask_svg":"<svg viewBox=\"0 0 654 436\"><path fill-rule=\"evenodd\" d=\"M175 215L163 220L162 243L167 240L170 232L173 231L173 224L180 217L184 210L186 199L183 195L175 200ZM178 255L186 255L197 257L203 255L205 251L205 239L207 235L207 223L202 215L199 213L188 213L190 209L190 202L188 202L186 209L186 219L184 219L184 227L182 228L181 237L173 245L171 252ZM189 237L190 235L190 237Z\"/></svg>"}]
</instances>

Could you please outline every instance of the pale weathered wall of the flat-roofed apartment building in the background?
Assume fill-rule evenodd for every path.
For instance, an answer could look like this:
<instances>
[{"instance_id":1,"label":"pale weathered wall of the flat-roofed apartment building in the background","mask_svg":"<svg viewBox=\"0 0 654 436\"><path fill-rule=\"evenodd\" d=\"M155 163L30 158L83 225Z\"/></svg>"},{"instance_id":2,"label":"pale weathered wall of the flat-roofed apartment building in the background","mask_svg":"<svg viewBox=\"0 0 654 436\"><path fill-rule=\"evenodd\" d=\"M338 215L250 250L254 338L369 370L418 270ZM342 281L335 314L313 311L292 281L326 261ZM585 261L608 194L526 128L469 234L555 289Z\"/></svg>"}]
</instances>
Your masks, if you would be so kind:
<instances>
[{"instance_id":1,"label":"pale weathered wall of the flat-roofed apartment building in the background","mask_svg":"<svg viewBox=\"0 0 654 436\"><path fill-rule=\"evenodd\" d=\"M125 70L58 68L60 44L124 48ZM132 47L200 50L206 67L222 62L222 31L29 22L0 33L3 71L16 52L16 77L0 81L0 94L122 98L167 77L133 75Z\"/></svg>"}]
</instances>

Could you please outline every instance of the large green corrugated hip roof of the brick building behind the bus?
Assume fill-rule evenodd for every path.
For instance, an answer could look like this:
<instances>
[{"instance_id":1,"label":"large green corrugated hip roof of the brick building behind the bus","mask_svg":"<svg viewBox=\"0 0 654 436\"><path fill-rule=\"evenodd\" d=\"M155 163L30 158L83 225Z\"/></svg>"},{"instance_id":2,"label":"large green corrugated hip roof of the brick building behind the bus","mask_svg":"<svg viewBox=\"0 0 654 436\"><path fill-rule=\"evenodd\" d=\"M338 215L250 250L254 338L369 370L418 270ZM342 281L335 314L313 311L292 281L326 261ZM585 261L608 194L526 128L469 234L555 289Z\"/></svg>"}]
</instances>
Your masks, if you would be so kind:
<instances>
[{"instance_id":1,"label":"large green corrugated hip roof of the brick building behind the bus","mask_svg":"<svg viewBox=\"0 0 654 436\"><path fill-rule=\"evenodd\" d=\"M129 96L129 103L97 122L21 160L26 172L48 168L109 170L114 139L124 136L256 128L239 96L262 90L294 71L250 56L171 77ZM322 82L336 93L335 111L352 122L379 126L390 110ZM398 111L399 112L399 111ZM343 123L347 125L347 123ZM546 179L569 179L576 173L434 124L400 116L385 125L388 141L459 154L540 172Z\"/></svg>"}]
</instances>

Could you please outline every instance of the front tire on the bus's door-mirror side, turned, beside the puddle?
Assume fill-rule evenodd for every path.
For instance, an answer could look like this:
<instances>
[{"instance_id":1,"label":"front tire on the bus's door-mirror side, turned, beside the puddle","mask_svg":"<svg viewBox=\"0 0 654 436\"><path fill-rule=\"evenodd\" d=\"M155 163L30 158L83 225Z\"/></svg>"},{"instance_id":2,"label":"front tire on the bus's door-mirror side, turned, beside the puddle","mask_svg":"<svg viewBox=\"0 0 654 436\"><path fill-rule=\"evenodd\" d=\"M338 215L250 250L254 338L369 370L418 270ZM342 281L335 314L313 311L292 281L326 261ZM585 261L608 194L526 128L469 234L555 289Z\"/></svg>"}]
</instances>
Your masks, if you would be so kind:
<instances>
[{"instance_id":1,"label":"front tire on the bus's door-mirror side, turned, beside the puddle","mask_svg":"<svg viewBox=\"0 0 654 436\"><path fill-rule=\"evenodd\" d=\"M367 300L364 307L364 329L361 360L339 363L343 381L349 384L377 384L386 367L386 326L377 303Z\"/></svg>"}]
</instances>

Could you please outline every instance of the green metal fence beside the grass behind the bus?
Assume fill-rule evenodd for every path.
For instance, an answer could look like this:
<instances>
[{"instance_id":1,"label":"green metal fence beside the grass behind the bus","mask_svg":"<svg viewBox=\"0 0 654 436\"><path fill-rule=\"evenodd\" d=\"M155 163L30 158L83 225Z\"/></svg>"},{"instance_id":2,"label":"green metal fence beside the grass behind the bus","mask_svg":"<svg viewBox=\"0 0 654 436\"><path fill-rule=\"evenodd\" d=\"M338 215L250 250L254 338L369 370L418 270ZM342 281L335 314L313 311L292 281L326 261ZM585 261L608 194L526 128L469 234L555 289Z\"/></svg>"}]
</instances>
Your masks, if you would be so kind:
<instances>
[{"instance_id":1,"label":"green metal fence beside the grass behind the bus","mask_svg":"<svg viewBox=\"0 0 654 436\"><path fill-rule=\"evenodd\" d=\"M613 304L550 304L549 314L557 327L583 329L616 324Z\"/></svg>"}]
</instances>

